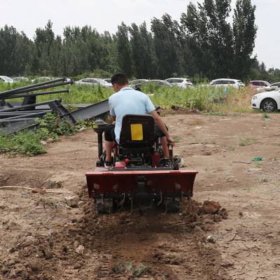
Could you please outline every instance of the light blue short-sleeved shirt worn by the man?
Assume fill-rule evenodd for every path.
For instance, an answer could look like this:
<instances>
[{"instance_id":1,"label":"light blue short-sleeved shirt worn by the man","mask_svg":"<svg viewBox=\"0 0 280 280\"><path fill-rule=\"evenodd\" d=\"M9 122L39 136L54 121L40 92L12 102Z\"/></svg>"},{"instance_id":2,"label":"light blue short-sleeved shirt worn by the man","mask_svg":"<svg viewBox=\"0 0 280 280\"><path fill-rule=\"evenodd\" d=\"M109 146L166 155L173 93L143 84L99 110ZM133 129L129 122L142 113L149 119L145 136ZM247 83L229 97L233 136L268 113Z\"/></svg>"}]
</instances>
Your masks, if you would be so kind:
<instances>
[{"instance_id":1,"label":"light blue short-sleeved shirt worn by the man","mask_svg":"<svg viewBox=\"0 0 280 280\"><path fill-rule=\"evenodd\" d=\"M151 99L138 90L131 87L123 87L119 92L109 97L111 116L116 116L116 141L120 141L120 130L122 130L123 116L134 114L144 115L155 110Z\"/></svg>"}]
</instances>

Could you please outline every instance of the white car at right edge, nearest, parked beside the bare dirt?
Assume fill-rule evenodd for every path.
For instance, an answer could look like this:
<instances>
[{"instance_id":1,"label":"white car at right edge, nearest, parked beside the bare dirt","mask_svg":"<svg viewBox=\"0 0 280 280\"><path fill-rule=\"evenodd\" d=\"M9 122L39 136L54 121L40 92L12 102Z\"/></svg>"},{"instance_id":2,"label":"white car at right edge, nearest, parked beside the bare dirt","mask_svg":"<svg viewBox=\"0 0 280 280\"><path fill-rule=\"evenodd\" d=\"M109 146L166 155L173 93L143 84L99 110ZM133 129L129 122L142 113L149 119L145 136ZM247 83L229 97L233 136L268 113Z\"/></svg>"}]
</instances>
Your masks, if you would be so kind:
<instances>
[{"instance_id":1,"label":"white car at right edge, nearest, parked beside the bare dirt","mask_svg":"<svg viewBox=\"0 0 280 280\"><path fill-rule=\"evenodd\" d=\"M251 100L251 107L253 109L262 109L267 113L280 109L279 90L255 94Z\"/></svg>"}]
</instances>

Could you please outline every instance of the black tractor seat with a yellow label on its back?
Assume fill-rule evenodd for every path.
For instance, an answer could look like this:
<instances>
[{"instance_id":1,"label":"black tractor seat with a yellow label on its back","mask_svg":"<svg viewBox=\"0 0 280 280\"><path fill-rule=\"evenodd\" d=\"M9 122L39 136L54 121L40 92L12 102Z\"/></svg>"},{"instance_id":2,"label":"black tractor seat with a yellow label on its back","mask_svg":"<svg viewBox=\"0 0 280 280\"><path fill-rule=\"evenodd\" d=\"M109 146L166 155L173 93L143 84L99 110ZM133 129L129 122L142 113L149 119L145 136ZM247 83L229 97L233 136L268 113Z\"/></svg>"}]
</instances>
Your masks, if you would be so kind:
<instances>
[{"instance_id":1,"label":"black tractor seat with a yellow label on its back","mask_svg":"<svg viewBox=\"0 0 280 280\"><path fill-rule=\"evenodd\" d=\"M119 153L152 153L155 120L150 115L125 115L120 132Z\"/></svg>"}]
</instances>

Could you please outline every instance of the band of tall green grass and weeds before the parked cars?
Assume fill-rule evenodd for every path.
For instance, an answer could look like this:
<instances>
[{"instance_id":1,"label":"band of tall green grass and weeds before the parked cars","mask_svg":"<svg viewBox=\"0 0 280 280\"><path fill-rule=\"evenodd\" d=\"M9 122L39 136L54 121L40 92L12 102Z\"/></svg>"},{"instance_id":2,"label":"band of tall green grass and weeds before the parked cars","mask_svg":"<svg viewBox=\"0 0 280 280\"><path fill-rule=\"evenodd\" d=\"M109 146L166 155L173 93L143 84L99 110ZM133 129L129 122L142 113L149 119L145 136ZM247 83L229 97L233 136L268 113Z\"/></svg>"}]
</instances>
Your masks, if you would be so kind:
<instances>
[{"instance_id":1,"label":"band of tall green grass and weeds before the parked cars","mask_svg":"<svg viewBox=\"0 0 280 280\"><path fill-rule=\"evenodd\" d=\"M0 83L0 92L25 85L25 83ZM63 104L90 104L109 98L113 89L90 85L66 85L70 92L37 97L37 102L61 98ZM56 90L55 89L55 90ZM239 90L224 87L195 86L185 90L179 87L158 87L152 84L142 87L157 106L169 108L172 105L208 112L251 112L251 97L254 92L249 87ZM17 99L11 99L15 101ZM22 100L22 99L18 99Z\"/></svg>"}]
</instances>

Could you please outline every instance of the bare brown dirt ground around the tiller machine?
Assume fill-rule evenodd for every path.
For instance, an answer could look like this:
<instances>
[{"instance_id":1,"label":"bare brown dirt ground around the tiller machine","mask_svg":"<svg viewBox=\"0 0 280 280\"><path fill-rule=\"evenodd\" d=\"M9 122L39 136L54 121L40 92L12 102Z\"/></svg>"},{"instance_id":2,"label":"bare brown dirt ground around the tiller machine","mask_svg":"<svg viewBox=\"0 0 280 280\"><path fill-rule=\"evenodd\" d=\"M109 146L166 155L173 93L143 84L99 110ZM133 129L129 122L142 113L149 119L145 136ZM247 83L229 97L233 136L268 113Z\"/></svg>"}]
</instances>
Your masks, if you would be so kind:
<instances>
[{"instance_id":1,"label":"bare brown dirt ground around the tiller machine","mask_svg":"<svg viewBox=\"0 0 280 280\"><path fill-rule=\"evenodd\" d=\"M279 279L280 115L269 116L165 117L184 168L200 172L193 199L219 202L222 221L94 214L84 176L97 156L90 130L48 144L45 155L0 155L0 186L68 190L81 201L71 208L66 194L0 190L0 279Z\"/></svg>"}]
</instances>

